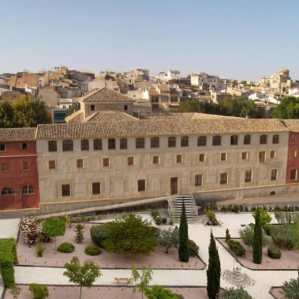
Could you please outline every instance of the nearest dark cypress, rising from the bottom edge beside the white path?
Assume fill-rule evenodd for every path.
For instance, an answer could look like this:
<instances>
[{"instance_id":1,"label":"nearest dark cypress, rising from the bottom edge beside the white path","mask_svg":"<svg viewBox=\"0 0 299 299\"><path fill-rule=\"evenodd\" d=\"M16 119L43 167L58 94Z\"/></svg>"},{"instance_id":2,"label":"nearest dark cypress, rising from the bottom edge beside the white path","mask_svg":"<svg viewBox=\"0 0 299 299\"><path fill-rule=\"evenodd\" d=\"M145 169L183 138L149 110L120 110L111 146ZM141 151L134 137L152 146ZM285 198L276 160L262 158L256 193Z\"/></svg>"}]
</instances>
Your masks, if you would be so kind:
<instances>
[{"instance_id":1,"label":"nearest dark cypress, rising from the bottom edge beside the white path","mask_svg":"<svg viewBox=\"0 0 299 299\"><path fill-rule=\"evenodd\" d=\"M207 292L209 299L216 299L220 291L220 259L216 242L211 230L211 239L209 245L209 265L207 270Z\"/></svg>"}]
</instances>

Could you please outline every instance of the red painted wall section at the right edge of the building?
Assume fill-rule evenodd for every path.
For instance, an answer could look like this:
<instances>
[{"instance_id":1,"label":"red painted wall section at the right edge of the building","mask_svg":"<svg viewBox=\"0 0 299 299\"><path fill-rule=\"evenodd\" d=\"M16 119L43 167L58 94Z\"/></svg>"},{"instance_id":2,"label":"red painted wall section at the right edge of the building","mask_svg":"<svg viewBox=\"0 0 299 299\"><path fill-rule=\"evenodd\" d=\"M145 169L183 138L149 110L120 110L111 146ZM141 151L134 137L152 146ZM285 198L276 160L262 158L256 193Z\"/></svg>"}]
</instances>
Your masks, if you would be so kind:
<instances>
[{"instance_id":1,"label":"red painted wall section at the right edge of the building","mask_svg":"<svg viewBox=\"0 0 299 299\"><path fill-rule=\"evenodd\" d=\"M296 139L292 139L292 135L296 136ZM297 150L297 156L292 157L292 150ZM297 179L291 180L291 170L297 169ZM288 157L287 157L287 177L286 183L299 183L299 133L290 132L289 134L289 146L288 146Z\"/></svg>"}]
</instances>

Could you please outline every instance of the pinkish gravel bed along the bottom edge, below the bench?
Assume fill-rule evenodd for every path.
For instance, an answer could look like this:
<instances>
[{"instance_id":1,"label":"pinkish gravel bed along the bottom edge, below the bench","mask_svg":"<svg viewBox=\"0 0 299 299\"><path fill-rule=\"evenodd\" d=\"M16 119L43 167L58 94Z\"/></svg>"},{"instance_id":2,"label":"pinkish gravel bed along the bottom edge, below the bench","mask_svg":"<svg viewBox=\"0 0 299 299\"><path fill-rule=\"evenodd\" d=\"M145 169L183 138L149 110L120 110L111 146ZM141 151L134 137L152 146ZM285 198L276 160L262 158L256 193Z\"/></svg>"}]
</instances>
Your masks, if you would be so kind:
<instances>
[{"instance_id":1,"label":"pinkish gravel bed along the bottom edge, below the bench","mask_svg":"<svg viewBox=\"0 0 299 299\"><path fill-rule=\"evenodd\" d=\"M21 294L18 299L32 299L32 293L28 286L22 285ZM72 286L49 286L49 297L47 299L57 298L79 298L79 288ZM167 288L173 293L181 294L185 299L208 299L206 288ZM141 294L138 291L133 295L133 289L130 287L92 287L90 289L82 288L82 298L84 299L115 299L131 298L140 299ZM4 299L12 299L9 290L6 290ZM146 299L146 297L145 297Z\"/></svg>"}]
</instances>

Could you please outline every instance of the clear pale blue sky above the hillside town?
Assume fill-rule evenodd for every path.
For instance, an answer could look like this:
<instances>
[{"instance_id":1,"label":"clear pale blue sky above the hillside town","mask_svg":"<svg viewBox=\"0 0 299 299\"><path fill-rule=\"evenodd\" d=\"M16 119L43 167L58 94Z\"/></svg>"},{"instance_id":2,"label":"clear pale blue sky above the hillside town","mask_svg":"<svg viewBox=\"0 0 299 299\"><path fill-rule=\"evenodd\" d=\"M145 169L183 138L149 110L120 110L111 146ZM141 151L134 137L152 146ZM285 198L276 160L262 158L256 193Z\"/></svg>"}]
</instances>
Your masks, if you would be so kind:
<instances>
[{"instance_id":1,"label":"clear pale blue sky above the hillside town","mask_svg":"<svg viewBox=\"0 0 299 299\"><path fill-rule=\"evenodd\" d=\"M299 80L299 1L0 0L0 73L176 68Z\"/></svg>"}]
</instances>

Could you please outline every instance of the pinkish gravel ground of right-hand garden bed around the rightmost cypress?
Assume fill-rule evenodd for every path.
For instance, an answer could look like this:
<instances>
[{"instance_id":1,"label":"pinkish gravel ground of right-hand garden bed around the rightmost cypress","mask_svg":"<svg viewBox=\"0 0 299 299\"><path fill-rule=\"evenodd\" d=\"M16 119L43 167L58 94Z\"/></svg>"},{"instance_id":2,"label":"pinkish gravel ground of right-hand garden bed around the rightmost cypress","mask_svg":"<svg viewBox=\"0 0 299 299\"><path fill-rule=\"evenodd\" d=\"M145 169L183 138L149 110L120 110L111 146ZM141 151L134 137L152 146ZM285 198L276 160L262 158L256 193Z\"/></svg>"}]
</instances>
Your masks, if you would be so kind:
<instances>
[{"instance_id":1,"label":"pinkish gravel ground of right-hand garden bed around the rightmost cypress","mask_svg":"<svg viewBox=\"0 0 299 299\"><path fill-rule=\"evenodd\" d=\"M229 252L231 253L235 259L238 259L238 261L246 268L252 269L252 270L298 270L298 264L299 264L299 253L295 250L288 250L286 248L280 248L282 252L282 257L279 260L271 259L268 256L267 248L269 246L277 247L272 238L270 236L267 236L267 246L263 247L263 259L262 264L255 264L253 262L252 258L252 247L248 246L244 243L242 239L232 239L235 241L239 241L243 247L246 250L246 254L241 257L235 256L235 254L230 250L228 245L225 243L225 239L223 238L217 238L218 242L220 242L221 245Z\"/></svg>"}]
</instances>

